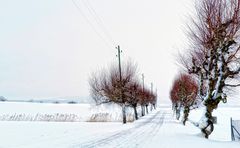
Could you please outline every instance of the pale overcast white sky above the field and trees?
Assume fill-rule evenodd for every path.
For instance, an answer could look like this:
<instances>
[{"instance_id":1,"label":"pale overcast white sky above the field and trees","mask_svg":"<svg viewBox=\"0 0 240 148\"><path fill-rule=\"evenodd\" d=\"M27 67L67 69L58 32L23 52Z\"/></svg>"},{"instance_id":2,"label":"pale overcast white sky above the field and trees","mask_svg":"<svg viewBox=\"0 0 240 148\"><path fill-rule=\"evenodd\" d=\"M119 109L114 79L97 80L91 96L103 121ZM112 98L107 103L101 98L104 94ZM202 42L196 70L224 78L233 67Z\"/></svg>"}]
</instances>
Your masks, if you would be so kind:
<instances>
[{"instance_id":1,"label":"pale overcast white sky above the field and trees","mask_svg":"<svg viewBox=\"0 0 240 148\"><path fill-rule=\"evenodd\" d=\"M87 97L89 75L117 62L119 44L122 59L135 60L146 85L153 82L166 100L178 71L174 54L186 43L191 1L75 0L95 31L71 0L0 1L0 96Z\"/></svg>"}]
</instances>

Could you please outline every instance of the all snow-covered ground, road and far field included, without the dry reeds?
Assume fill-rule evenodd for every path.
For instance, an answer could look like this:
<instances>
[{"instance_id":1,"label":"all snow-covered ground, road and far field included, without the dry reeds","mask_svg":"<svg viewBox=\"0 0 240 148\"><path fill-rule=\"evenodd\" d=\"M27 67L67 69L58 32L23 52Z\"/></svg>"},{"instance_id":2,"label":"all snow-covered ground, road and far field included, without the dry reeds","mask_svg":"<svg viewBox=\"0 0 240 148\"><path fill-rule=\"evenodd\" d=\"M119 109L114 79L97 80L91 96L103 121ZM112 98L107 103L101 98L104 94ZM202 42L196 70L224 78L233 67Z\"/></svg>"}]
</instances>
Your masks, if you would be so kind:
<instances>
[{"instance_id":1,"label":"all snow-covered ground, road and far field included, without the dry reeds","mask_svg":"<svg viewBox=\"0 0 240 148\"><path fill-rule=\"evenodd\" d=\"M26 104L0 103L3 114L75 114L85 121L98 112L115 112L114 107L95 108L88 104ZM117 113L118 112L118 113ZM109 112L110 113L110 112ZM230 117L240 119L239 107L221 107L215 131L208 140L192 124L183 126L172 115L171 108L161 106L138 121L123 125L121 122L40 122L0 121L1 148L42 147L218 147L239 148L240 142L231 141ZM198 120L201 110L190 114ZM112 114L112 117L114 114ZM115 117L114 117L115 118ZM80 121L80 120L79 120Z\"/></svg>"}]
</instances>

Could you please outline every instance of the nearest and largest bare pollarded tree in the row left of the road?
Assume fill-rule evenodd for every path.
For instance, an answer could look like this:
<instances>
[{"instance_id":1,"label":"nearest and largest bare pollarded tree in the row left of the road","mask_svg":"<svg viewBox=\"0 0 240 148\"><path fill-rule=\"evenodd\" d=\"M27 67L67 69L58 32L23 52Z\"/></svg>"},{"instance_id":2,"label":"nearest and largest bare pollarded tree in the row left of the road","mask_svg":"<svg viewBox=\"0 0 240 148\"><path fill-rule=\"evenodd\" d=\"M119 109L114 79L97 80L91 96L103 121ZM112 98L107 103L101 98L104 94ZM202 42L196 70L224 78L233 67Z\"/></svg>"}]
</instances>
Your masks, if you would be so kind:
<instances>
[{"instance_id":1,"label":"nearest and largest bare pollarded tree in the row left of the road","mask_svg":"<svg viewBox=\"0 0 240 148\"><path fill-rule=\"evenodd\" d=\"M123 123L126 123L126 105L128 104L128 89L136 79L136 64L128 62L122 66L122 80L120 81L118 66L112 65L93 73L89 79L90 93L97 104L117 103L122 107Z\"/></svg>"}]
</instances>

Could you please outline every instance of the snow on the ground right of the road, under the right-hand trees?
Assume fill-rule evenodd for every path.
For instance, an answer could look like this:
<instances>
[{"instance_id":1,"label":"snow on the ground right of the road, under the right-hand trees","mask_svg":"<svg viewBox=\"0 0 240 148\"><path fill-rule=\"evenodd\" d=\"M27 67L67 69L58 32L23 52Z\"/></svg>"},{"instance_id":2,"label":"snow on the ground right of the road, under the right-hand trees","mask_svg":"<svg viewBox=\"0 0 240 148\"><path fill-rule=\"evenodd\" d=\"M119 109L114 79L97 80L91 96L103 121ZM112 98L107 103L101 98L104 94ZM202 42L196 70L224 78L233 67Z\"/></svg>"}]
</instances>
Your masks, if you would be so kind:
<instances>
[{"instance_id":1,"label":"snow on the ground right of the road, under the right-hand trees","mask_svg":"<svg viewBox=\"0 0 240 148\"><path fill-rule=\"evenodd\" d=\"M169 109L165 109L166 112L169 112ZM219 111L219 112L218 112ZM175 147L185 147L185 148L203 148L203 147L218 147L218 148L237 148L240 146L239 142L231 142L231 132L230 132L230 119L224 115L220 117L223 112L225 115L232 114L234 116L239 116L240 108L219 108L215 112L215 115L218 117L218 124L214 125L215 130L210 138L207 140L203 138L200 134L200 130L193 126L191 123L187 122L186 126L180 124L179 121L173 119L172 115L165 118L165 122L161 128L161 131L158 132L158 135L154 137L155 142L152 142L150 145L152 147L165 147L165 148L175 148ZM201 115L201 109L193 111L190 115L190 118L199 118ZM200 116L201 117L201 116ZM222 120L228 119L228 120ZM196 120L197 121L197 120ZM227 124L225 124L227 123Z\"/></svg>"}]
</instances>

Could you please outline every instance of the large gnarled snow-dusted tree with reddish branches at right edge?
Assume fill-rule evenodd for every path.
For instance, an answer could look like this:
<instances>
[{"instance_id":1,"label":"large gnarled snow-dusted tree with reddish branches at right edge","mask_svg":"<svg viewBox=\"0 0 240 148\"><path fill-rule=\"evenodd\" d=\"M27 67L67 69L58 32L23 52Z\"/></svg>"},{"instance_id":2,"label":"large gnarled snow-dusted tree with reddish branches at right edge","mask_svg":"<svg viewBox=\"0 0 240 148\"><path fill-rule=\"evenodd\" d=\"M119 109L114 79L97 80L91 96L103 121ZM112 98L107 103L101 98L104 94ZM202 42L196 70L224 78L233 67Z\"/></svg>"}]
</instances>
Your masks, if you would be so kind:
<instances>
[{"instance_id":1,"label":"large gnarled snow-dusted tree with reddish branches at right edge","mask_svg":"<svg viewBox=\"0 0 240 148\"><path fill-rule=\"evenodd\" d=\"M194 86L193 93L205 109L194 125L208 138L214 130L213 110L220 102L227 102L229 89L240 86L240 0L200 0L195 1L195 6L196 13L188 24L190 48L179 59L188 74L199 82L198 91ZM171 92L173 103L174 87L175 84ZM180 92L177 100L183 99Z\"/></svg>"}]
</instances>

